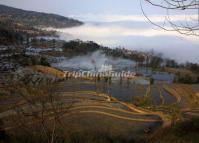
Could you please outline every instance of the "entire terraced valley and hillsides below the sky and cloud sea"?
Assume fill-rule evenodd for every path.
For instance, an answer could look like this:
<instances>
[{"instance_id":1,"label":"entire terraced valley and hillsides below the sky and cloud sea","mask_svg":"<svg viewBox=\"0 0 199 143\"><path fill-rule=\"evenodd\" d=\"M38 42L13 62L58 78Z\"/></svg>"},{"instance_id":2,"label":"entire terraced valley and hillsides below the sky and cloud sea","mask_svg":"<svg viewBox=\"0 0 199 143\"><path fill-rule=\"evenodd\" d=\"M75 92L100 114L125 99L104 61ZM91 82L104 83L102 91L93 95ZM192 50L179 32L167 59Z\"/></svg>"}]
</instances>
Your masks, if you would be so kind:
<instances>
[{"instance_id":1,"label":"entire terraced valley and hillsides below the sky and cloud sea","mask_svg":"<svg viewBox=\"0 0 199 143\"><path fill-rule=\"evenodd\" d=\"M198 122L198 63L45 30L83 24L0 5L0 142L167 143Z\"/></svg>"}]
</instances>

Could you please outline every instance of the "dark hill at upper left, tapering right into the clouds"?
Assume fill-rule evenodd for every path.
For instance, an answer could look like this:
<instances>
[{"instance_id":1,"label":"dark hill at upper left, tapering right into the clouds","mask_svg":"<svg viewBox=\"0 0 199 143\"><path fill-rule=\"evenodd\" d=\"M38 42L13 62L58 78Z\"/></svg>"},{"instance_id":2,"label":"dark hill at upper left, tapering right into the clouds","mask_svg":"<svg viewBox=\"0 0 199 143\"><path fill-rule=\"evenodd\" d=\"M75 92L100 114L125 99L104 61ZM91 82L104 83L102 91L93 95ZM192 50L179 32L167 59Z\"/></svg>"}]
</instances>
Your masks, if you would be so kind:
<instances>
[{"instance_id":1,"label":"dark hill at upper left, tapering right into the clouds","mask_svg":"<svg viewBox=\"0 0 199 143\"><path fill-rule=\"evenodd\" d=\"M24 11L0 5L0 44L21 45L28 37L57 36L55 31L38 27L64 28L83 24L82 22L54 14Z\"/></svg>"}]
</instances>

